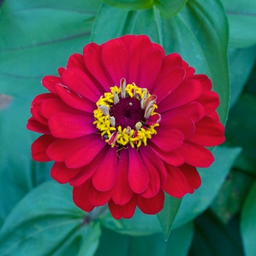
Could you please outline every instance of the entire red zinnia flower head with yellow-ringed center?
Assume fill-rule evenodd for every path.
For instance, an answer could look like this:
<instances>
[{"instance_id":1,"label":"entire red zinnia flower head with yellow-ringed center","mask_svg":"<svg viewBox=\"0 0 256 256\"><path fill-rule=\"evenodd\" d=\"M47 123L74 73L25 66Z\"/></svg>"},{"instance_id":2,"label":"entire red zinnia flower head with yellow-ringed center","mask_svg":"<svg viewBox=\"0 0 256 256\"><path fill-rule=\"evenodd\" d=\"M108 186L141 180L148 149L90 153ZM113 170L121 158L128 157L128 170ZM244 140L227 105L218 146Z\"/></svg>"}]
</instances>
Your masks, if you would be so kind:
<instances>
[{"instance_id":1,"label":"entire red zinnia flower head with yellow-ringed center","mask_svg":"<svg viewBox=\"0 0 256 256\"><path fill-rule=\"evenodd\" d=\"M211 80L144 35L90 43L42 85L50 92L34 98L27 124L43 134L32 157L54 161L50 175L84 211L157 214L164 192L200 187L196 167L214 161L206 146L225 140Z\"/></svg>"}]
</instances>

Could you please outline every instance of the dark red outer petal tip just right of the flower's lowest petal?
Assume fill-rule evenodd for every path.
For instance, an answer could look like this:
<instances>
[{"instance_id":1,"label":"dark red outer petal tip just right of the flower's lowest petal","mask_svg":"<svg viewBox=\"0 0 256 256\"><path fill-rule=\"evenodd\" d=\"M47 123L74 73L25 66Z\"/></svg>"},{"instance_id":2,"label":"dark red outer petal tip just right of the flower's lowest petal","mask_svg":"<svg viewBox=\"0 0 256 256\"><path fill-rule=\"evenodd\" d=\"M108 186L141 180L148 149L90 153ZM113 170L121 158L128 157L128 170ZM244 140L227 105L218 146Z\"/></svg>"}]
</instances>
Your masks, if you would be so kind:
<instances>
[{"instance_id":1,"label":"dark red outer petal tip just right of the flower's lowest petal","mask_svg":"<svg viewBox=\"0 0 256 256\"><path fill-rule=\"evenodd\" d=\"M151 198L138 196L138 207L144 214L157 214L164 206L165 195L162 189L159 193Z\"/></svg>"}]
</instances>

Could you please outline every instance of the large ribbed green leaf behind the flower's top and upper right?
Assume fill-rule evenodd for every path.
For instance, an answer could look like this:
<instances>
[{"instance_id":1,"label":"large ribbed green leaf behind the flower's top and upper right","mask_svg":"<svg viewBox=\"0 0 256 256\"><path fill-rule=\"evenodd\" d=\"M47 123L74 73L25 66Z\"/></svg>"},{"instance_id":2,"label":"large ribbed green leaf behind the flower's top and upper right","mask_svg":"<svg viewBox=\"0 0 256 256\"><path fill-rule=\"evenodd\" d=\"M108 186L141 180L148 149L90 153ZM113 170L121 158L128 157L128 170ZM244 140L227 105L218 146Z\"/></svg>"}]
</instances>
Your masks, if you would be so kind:
<instances>
[{"instance_id":1,"label":"large ribbed green leaf behind the flower's top and upper right","mask_svg":"<svg viewBox=\"0 0 256 256\"><path fill-rule=\"evenodd\" d=\"M221 100L220 120L225 123L229 104L228 35L225 12L219 1L188 1L172 18L162 18L155 8L129 11L102 4L91 40L102 43L124 34L147 34L167 53L180 53L197 73L209 75Z\"/></svg>"}]
</instances>

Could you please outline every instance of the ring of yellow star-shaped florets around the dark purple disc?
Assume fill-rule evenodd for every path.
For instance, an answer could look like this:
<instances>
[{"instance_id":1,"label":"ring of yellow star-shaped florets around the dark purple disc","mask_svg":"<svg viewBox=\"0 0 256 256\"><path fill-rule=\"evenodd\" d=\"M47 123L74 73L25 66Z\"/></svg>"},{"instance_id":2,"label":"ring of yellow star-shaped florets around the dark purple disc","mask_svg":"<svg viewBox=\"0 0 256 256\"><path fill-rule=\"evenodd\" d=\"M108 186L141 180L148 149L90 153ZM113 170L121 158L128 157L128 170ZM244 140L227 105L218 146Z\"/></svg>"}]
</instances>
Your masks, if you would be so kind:
<instances>
[{"instance_id":1,"label":"ring of yellow star-shaped florets around the dark purple disc","mask_svg":"<svg viewBox=\"0 0 256 256\"><path fill-rule=\"evenodd\" d=\"M138 120L135 127L116 127L115 117L110 116L110 108L119 102L119 99L130 97L140 100L140 106L145 110L145 120L149 116L158 115L158 121L153 125L146 124L146 121ZM146 146L147 140L152 135L157 134L155 127L159 126L161 116L154 112L157 109L155 104L155 95L148 94L147 89L141 89L136 86L135 83L126 85L124 78L121 79L120 88L117 86L110 87L110 92L105 92L104 96L100 97L97 101L97 109L94 110L94 124L102 136L105 138L105 142L111 147L114 146L127 146L130 145L132 148L135 146L138 148L142 143Z\"/></svg>"}]
</instances>

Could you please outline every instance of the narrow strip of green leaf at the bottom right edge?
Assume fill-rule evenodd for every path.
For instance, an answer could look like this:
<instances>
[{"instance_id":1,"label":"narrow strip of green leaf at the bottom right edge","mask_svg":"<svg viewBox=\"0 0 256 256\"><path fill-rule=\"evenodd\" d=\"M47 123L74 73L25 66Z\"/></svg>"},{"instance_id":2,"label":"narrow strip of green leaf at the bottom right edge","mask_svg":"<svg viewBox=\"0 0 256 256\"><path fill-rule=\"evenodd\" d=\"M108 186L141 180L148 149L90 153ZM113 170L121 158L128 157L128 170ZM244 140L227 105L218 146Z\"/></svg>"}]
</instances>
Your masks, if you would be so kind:
<instances>
[{"instance_id":1,"label":"narrow strip of green leaf at the bottom right edge","mask_svg":"<svg viewBox=\"0 0 256 256\"><path fill-rule=\"evenodd\" d=\"M246 256L255 256L256 254L256 182L250 190L244 202L241 213L241 237L244 244Z\"/></svg>"}]
</instances>

